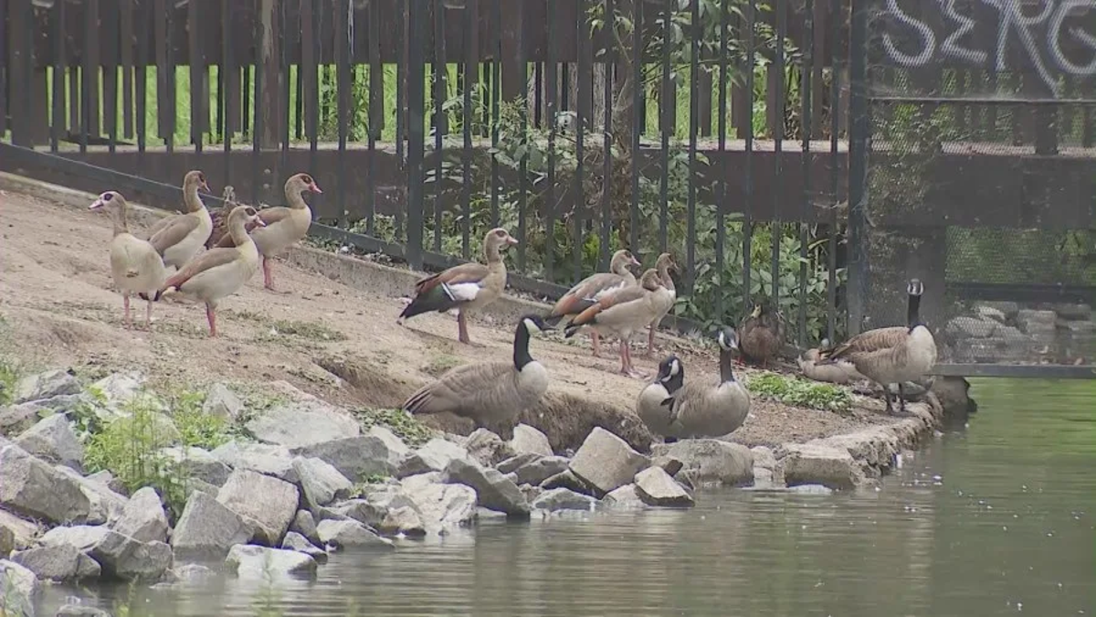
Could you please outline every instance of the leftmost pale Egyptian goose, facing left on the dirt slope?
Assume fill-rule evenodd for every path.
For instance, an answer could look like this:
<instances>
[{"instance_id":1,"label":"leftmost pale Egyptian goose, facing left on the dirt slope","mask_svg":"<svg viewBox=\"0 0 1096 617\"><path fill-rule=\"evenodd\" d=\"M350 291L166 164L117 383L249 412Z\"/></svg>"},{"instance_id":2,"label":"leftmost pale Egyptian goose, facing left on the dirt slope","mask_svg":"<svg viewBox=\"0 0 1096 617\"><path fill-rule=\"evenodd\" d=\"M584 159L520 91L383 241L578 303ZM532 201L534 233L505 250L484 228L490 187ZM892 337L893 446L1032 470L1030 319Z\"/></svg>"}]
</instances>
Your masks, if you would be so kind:
<instances>
[{"instance_id":1,"label":"leftmost pale Egyptian goose, facing left on the dirt slope","mask_svg":"<svg viewBox=\"0 0 1096 617\"><path fill-rule=\"evenodd\" d=\"M111 240L111 276L114 285L122 292L125 306L126 327L133 326L129 318L129 296L145 294L148 306L145 308L145 326L152 327L152 299L163 279L168 276L163 259L156 247L129 233L126 221L128 206L125 198L116 191L106 191L99 195L90 210L107 209L114 221L114 239Z\"/></svg>"}]
</instances>

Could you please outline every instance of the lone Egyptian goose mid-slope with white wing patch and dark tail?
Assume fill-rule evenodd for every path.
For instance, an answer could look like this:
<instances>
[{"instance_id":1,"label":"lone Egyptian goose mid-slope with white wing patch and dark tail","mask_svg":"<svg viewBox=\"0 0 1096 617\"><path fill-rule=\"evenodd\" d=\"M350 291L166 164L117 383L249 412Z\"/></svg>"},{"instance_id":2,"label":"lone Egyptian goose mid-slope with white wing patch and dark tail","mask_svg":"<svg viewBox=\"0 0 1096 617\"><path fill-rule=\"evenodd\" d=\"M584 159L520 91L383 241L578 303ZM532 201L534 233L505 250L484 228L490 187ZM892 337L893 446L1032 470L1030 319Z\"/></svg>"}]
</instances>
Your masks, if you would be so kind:
<instances>
[{"instance_id":1,"label":"lone Egyptian goose mid-slope with white wing patch and dark tail","mask_svg":"<svg viewBox=\"0 0 1096 617\"><path fill-rule=\"evenodd\" d=\"M414 299L403 307L396 323L436 311L444 313L457 308L457 337L460 343L470 344L468 338L468 315L487 306L502 295L506 287L506 265L499 250L517 244L506 229L495 227L483 237L482 263L461 263L444 272L420 279L414 284Z\"/></svg>"}]
</instances>

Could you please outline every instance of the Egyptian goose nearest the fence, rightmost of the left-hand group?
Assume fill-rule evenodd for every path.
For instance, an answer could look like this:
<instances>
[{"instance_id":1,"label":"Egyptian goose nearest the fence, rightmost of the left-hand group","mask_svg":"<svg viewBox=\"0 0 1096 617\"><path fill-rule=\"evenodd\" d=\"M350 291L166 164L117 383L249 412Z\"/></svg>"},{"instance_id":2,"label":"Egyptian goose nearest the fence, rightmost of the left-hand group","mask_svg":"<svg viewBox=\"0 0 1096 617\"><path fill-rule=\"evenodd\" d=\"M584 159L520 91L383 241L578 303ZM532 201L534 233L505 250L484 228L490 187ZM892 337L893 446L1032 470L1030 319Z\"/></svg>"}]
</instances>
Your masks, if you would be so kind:
<instances>
[{"instance_id":1,"label":"Egyptian goose nearest the fence, rightmost of the left-hand group","mask_svg":"<svg viewBox=\"0 0 1096 617\"><path fill-rule=\"evenodd\" d=\"M265 226L253 229L251 239L255 242L259 254L263 258L263 287L274 291L274 277L271 273L272 259L289 248L289 246L308 235L312 224L312 209L308 207L300 193L311 191L322 193L316 180L308 173L295 173L285 181L285 200L288 206L264 207L259 211L259 217ZM231 234L222 236L217 247L232 246Z\"/></svg>"}]
</instances>

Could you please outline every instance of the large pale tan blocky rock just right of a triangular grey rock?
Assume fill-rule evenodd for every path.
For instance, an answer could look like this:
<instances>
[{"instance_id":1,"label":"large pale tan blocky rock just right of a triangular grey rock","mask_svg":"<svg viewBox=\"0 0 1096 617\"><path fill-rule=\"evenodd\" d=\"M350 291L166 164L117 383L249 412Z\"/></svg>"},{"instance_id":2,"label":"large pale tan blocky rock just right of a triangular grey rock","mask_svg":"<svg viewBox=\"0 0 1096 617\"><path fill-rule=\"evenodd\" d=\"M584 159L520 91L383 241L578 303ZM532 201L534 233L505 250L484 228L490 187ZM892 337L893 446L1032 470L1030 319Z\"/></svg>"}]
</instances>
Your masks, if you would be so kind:
<instances>
[{"instance_id":1,"label":"large pale tan blocky rock just right of a triangular grey rock","mask_svg":"<svg viewBox=\"0 0 1096 617\"><path fill-rule=\"evenodd\" d=\"M254 521L258 543L273 547L282 541L297 513L300 494L284 480L248 470L236 470L217 493L217 501L248 521Z\"/></svg>"}]
</instances>

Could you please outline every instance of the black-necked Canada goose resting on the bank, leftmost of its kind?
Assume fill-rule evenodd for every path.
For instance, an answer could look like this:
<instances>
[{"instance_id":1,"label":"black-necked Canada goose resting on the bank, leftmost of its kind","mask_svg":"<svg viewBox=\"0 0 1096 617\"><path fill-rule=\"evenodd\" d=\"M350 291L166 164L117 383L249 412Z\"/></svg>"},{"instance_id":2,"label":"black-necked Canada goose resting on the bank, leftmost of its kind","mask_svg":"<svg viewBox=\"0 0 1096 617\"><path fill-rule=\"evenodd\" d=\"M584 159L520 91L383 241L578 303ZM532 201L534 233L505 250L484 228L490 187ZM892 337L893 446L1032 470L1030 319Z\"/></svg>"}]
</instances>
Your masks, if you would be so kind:
<instances>
[{"instance_id":1,"label":"black-necked Canada goose resting on the bank, leftmost of its kind","mask_svg":"<svg viewBox=\"0 0 1096 617\"><path fill-rule=\"evenodd\" d=\"M513 361L450 369L412 394L403 410L414 415L449 412L512 439L517 416L548 390L548 371L529 356L529 336L546 328L537 315L522 317L514 328Z\"/></svg>"}]
</instances>

